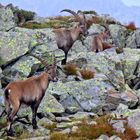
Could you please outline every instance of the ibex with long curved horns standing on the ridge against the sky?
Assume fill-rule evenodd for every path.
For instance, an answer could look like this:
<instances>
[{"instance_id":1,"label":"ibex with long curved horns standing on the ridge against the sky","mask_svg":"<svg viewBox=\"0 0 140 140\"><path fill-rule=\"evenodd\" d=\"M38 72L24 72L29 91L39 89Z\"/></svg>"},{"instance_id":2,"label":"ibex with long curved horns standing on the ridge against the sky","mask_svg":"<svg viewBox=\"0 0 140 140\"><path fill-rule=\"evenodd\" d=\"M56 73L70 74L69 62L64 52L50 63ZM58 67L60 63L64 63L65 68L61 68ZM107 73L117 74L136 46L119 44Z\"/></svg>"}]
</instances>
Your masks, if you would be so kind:
<instances>
[{"instance_id":1,"label":"ibex with long curved horns standing on the ridge against the sky","mask_svg":"<svg viewBox=\"0 0 140 140\"><path fill-rule=\"evenodd\" d=\"M66 64L67 61L67 55L74 44L74 42L81 37L81 35L86 36L88 34L87 27L86 27L86 18L84 14L79 11L78 13L75 13L72 10L64 9L61 12L66 11L71 14L73 14L76 18L76 20L79 22L79 24L75 27L66 29L66 28L60 28L60 29L54 29L53 32L55 33L55 38L57 42L57 46L59 49L63 50L65 53L65 58L62 60L62 65Z\"/></svg>"}]
</instances>

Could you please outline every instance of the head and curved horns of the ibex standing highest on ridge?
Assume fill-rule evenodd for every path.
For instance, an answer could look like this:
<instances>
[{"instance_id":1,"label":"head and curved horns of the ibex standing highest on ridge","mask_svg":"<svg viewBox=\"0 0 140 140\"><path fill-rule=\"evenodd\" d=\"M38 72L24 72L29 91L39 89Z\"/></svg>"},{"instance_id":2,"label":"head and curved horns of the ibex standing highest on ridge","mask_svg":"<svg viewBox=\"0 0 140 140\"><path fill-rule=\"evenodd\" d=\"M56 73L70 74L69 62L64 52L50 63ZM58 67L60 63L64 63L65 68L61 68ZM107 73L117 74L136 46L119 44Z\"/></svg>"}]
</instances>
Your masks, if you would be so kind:
<instances>
[{"instance_id":1,"label":"head and curved horns of the ibex standing highest on ridge","mask_svg":"<svg viewBox=\"0 0 140 140\"><path fill-rule=\"evenodd\" d=\"M80 27L81 34L84 36L88 35L86 18L82 11L79 10L77 13L75 13L74 11L70 9L64 9L61 12L69 12L72 15L74 15L76 20L79 22L78 27Z\"/></svg>"}]
</instances>

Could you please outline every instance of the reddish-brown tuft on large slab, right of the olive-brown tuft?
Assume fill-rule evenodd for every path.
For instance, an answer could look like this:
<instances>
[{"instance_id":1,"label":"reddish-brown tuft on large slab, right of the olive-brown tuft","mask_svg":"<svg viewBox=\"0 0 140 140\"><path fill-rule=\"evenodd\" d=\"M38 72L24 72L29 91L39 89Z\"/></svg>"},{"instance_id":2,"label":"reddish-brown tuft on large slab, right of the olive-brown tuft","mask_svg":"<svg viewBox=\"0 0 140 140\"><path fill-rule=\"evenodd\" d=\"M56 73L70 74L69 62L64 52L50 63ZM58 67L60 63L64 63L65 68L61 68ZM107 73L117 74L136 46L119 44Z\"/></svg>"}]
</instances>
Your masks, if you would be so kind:
<instances>
[{"instance_id":1,"label":"reddish-brown tuft on large slab, right of the olive-brown tuft","mask_svg":"<svg viewBox=\"0 0 140 140\"><path fill-rule=\"evenodd\" d=\"M90 70L80 70L82 78L85 80L94 78L94 72Z\"/></svg>"}]
</instances>

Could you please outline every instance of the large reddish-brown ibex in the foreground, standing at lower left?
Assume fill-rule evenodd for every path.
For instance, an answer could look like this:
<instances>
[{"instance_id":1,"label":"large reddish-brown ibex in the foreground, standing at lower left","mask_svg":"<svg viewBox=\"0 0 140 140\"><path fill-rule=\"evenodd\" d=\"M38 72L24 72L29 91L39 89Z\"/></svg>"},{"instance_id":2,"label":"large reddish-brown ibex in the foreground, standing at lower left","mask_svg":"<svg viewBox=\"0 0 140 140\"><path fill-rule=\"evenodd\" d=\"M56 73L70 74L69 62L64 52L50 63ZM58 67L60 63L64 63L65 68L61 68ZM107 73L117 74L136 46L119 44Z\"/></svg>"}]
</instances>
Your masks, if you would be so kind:
<instances>
[{"instance_id":1,"label":"large reddish-brown ibex in the foreground, standing at lower left","mask_svg":"<svg viewBox=\"0 0 140 140\"><path fill-rule=\"evenodd\" d=\"M32 126L37 128L36 115L37 109L50 81L56 82L56 58L53 55L52 64L49 65L41 58L32 55L39 59L45 65L45 71L36 77L30 77L25 80L9 83L4 92L4 104L7 112L7 135L12 135L12 122L22 104L28 105L32 110ZM12 106L12 111L10 111Z\"/></svg>"}]
</instances>

